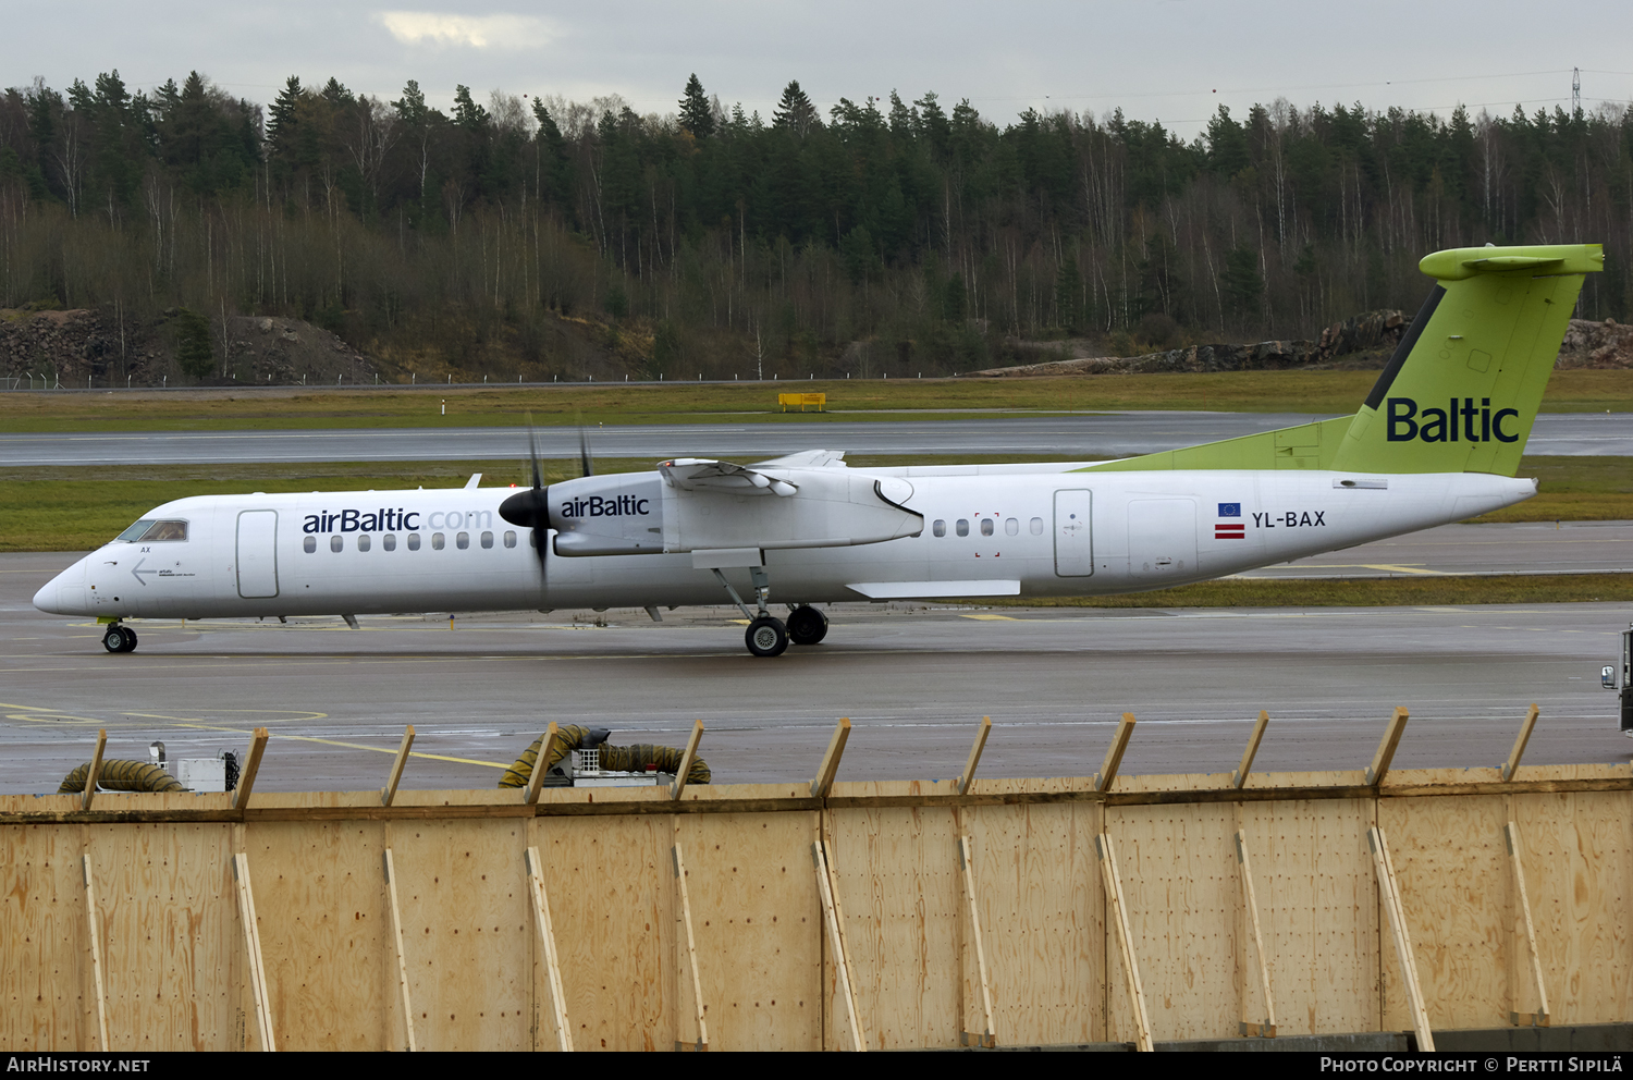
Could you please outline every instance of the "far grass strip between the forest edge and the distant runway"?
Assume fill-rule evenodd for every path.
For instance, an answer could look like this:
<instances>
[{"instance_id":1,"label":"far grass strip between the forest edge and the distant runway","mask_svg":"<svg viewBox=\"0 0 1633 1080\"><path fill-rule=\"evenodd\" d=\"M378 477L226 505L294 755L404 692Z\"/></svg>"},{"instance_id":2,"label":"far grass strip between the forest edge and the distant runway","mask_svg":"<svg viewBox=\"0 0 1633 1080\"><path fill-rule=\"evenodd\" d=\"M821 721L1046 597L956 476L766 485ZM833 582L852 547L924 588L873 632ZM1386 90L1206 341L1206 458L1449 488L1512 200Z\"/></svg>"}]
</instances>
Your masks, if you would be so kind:
<instances>
[{"instance_id":1,"label":"far grass strip between the forest edge and the distant runway","mask_svg":"<svg viewBox=\"0 0 1633 1080\"><path fill-rule=\"evenodd\" d=\"M905 412L1061 413L1117 408L1347 413L1373 371L1050 379L870 379L670 386L573 384L527 389L175 390L0 394L0 431L207 431L255 428L508 426L895 420ZM779 392L825 392L826 413L777 412ZM447 404L447 413L441 412ZM1633 371L1556 371L1543 412L1633 412ZM924 418L924 417L921 417Z\"/></svg>"}]
</instances>

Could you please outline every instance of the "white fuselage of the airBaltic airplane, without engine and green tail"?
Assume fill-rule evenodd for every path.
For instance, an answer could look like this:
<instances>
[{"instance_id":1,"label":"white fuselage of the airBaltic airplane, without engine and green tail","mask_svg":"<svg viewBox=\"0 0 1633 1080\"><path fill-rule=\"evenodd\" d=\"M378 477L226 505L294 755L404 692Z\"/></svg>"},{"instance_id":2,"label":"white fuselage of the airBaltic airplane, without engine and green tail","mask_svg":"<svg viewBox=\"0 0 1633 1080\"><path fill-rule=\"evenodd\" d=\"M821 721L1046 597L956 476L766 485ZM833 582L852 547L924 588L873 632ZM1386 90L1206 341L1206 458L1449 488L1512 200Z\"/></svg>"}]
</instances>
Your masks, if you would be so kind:
<instances>
[{"instance_id":1,"label":"white fuselage of the airBaltic airplane, without engine and green tail","mask_svg":"<svg viewBox=\"0 0 1633 1080\"><path fill-rule=\"evenodd\" d=\"M905 479L918 536L764 551L774 603L1081 596L1166 588L1458 521L1535 482L1475 472L849 469ZM185 541L114 541L34 596L100 618L230 618L727 603L691 554L563 557L541 570L500 503L516 489L181 498ZM349 513L348 513L349 511ZM937 526L941 523L941 526ZM963 526L960 528L960 523ZM552 533L554 536L554 533ZM745 595L746 569L725 570Z\"/></svg>"}]
</instances>

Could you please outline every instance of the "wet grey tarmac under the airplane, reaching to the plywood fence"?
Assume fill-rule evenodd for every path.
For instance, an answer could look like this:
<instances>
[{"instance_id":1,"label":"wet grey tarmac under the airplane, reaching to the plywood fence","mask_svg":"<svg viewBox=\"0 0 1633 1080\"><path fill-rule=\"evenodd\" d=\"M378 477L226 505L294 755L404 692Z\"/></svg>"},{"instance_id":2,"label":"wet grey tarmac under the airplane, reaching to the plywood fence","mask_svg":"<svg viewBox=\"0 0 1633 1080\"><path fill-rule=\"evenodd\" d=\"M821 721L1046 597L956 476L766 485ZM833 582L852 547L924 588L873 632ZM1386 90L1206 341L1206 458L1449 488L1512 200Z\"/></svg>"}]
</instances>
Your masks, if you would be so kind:
<instances>
[{"instance_id":1,"label":"wet grey tarmac under the airplane, reaching to the plywood fence","mask_svg":"<svg viewBox=\"0 0 1633 1080\"><path fill-rule=\"evenodd\" d=\"M1313 560L1306 572L1622 569L1633 523L1445 526ZM743 649L725 605L178 623L136 621L109 655L90 619L39 613L34 590L73 554L0 556L0 791L54 791L90 758L243 750L273 734L256 786L379 788L416 729L403 788L487 788L550 721L614 743L681 745L696 719L719 783L808 779L838 719L841 779L946 778L993 719L986 776L1089 776L1124 712L1127 773L1236 766L1259 709L1259 770L1365 768L1395 706L1413 719L1398 768L1489 766L1528 704L1532 763L1626 763L1615 694L1628 603L1457 608L1061 609L834 605L821 645ZM1354 565L1336 565L1354 564ZM1382 570L1380 570L1382 567ZM1297 567L1295 567L1297 570ZM1280 570L1287 573L1293 570Z\"/></svg>"}]
</instances>

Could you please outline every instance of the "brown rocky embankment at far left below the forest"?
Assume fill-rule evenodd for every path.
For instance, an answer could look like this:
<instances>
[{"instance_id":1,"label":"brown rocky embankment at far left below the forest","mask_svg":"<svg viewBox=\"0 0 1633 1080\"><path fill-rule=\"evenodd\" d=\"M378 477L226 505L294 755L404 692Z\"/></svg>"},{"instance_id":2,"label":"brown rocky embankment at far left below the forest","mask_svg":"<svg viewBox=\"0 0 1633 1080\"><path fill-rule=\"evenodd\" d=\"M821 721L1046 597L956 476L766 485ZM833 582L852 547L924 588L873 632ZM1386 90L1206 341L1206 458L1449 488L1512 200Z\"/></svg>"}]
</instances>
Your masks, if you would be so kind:
<instances>
[{"instance_id":1,"label":"brown rocky embankment at far left below the forest","mask_svg":"<svg viewBox=\"0 0 1633 1080\"><path fill-rule=\"evenodd\" d=\"M374 364L343 340L299 319L211 320L216 374L193 382L176 366L168 317L119 319L105 310L0 310L0 376L8 386L343 386L372 382Z\"/></svg>"}]
</instances>

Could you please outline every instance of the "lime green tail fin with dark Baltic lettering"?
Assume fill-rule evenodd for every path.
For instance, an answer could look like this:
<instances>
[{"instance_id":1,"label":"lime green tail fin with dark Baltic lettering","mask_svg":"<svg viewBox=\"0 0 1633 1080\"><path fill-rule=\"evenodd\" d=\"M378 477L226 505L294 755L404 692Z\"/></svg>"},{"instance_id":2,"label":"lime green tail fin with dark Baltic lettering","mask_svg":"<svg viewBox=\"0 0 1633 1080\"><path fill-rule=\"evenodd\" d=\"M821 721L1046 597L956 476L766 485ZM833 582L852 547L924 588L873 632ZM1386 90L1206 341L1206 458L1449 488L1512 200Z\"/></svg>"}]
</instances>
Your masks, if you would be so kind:
<instances>
[{"instance_id":1,"label":"lime green tail fin with dark Baltic lettering","mask_svg":"<svg viewBox=\"0 0 1633 1080\"><path fill-rule=\"evenodd\" d=\"M1339 472L1519 471L1597 243L1435 252L1434 292L1339 443Z\"/></svg>"}]
</instances>

